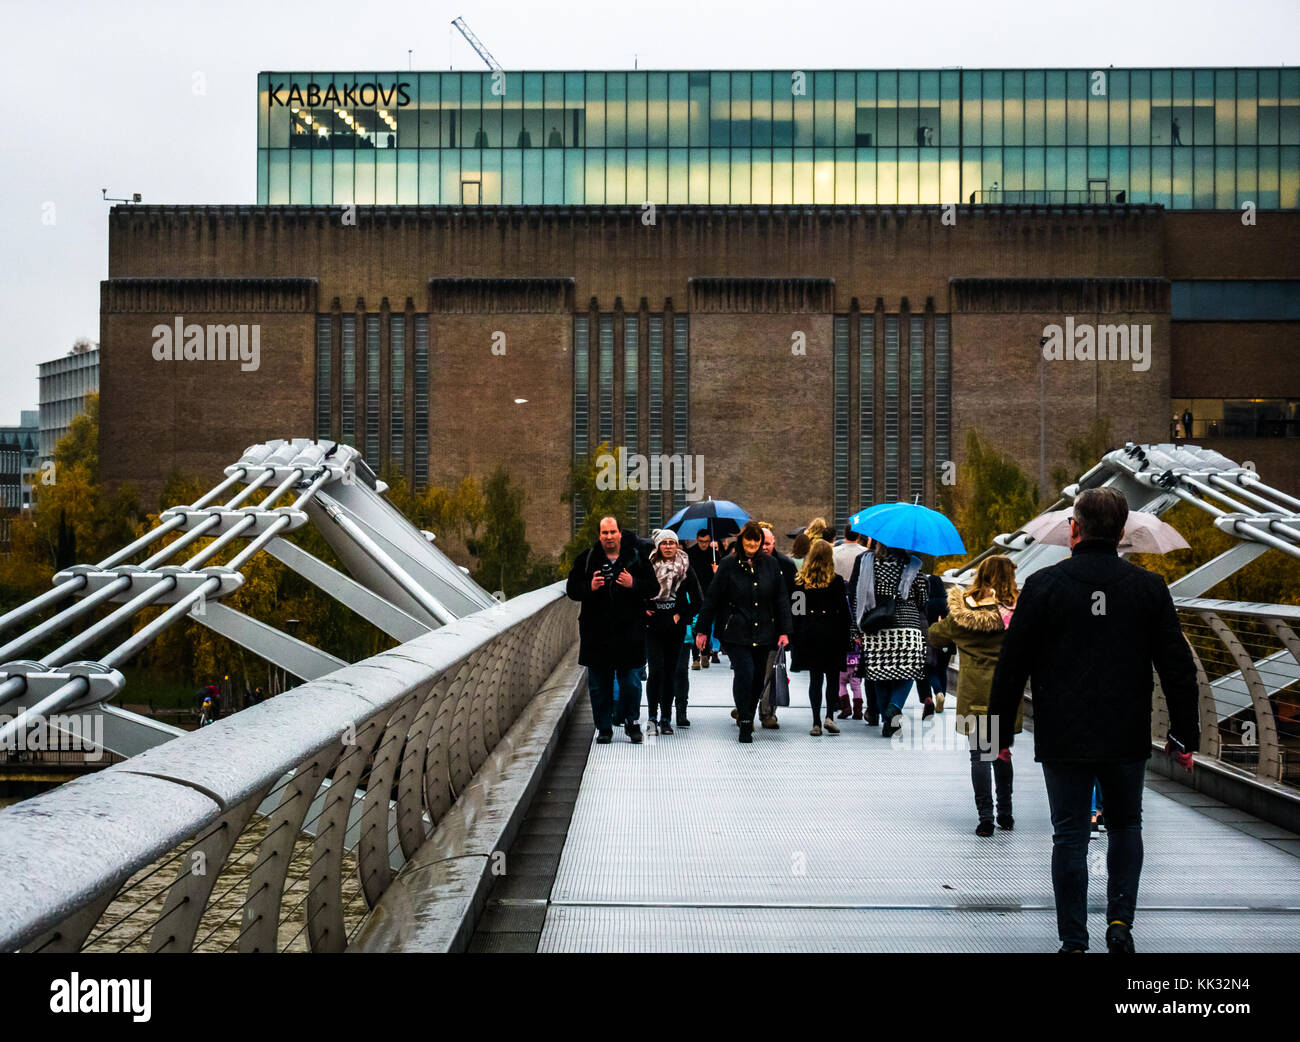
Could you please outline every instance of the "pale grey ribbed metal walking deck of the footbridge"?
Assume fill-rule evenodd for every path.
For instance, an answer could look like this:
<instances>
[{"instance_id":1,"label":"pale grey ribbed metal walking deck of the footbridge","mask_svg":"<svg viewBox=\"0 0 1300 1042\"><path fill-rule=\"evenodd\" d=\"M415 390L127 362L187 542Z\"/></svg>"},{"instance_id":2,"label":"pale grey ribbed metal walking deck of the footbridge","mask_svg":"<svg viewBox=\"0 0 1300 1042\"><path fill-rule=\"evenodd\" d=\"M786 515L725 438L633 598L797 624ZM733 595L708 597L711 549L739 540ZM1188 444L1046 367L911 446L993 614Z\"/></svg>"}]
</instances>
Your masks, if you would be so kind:
<instances>
[{"instance_id":1,"label":"pale grey ribbed metal walking deck of the footbridge","mask_svg":"<svg viewBox=\"0 0 1300 1042\"><path fill-rule=\"evenodd\" d=\"M731 677L725 659L692 672L689 730L592 748L540 951L1056 950L1031 733L1015 830L983 839L950 709L922 726L913 694L907 741L853 720L811 738L794 674L780 730L742 746ZM1300 838L1150 773L1144 822L1139 951L1300 951ZM1091 850L1093 951L1105 846Z\"/></svg>"}]
</instances>

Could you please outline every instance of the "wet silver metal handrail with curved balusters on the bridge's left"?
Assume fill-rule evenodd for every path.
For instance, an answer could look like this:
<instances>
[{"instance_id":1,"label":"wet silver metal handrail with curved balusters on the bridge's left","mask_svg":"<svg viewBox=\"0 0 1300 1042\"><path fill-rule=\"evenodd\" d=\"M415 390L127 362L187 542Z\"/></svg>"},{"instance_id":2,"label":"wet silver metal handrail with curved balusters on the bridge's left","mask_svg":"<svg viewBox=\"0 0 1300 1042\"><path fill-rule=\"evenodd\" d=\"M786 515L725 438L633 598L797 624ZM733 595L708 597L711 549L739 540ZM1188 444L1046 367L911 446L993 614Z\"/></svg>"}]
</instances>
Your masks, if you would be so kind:
<instances>
[{"instance_id":1,"label":"wet silver metal handrail with curved balusters on the bridge's left","mask_svg":"<svg viewBox=\"0 0 1300 1042\"><path fill-rule=\"evenodd\" d=\"M186 856L170 859L166 908L147 932L151 950L190 950L217 876L255 819L268 832L237 908L239 950L280 948L289 861L313 824L303 929L313 950L343 950L347 843L338 841L352 838L373 907L394 860L419 848L545 685L576 639L575 620L576 604L555 583L0 811L0 950L81 950L109 903L121 903L122 883L187 842ZM304 825L308 811L316 819Z\"/></svg>"}]
</instances>

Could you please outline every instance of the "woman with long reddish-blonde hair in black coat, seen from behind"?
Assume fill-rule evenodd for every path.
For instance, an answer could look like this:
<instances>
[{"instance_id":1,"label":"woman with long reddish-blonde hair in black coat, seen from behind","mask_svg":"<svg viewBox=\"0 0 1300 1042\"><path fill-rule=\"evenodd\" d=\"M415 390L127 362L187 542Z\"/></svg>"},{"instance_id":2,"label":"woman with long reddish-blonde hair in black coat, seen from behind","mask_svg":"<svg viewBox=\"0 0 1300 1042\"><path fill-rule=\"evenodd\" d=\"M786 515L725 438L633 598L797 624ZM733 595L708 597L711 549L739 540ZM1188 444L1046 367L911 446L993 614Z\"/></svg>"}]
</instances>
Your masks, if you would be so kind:
<instances>
[{"instance_id":1,"label":"woman with long reddish-blonde hair in black coat, seen from behind","mask_svg":"<svg viewBox=\"0 0 1300 1042\"><path fill-rule=\"evenodd\" d=\"M849 652L849 595L835 573L835 551L818 539L794 578L790 609L794 631L790 639L790 669L809 672L809 702L812 705L814 738L822 737L822 686L826 685L826 733L838 734L835 722L832 685L840 678Z\"/></svg>"}]
</instances>

